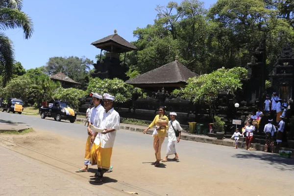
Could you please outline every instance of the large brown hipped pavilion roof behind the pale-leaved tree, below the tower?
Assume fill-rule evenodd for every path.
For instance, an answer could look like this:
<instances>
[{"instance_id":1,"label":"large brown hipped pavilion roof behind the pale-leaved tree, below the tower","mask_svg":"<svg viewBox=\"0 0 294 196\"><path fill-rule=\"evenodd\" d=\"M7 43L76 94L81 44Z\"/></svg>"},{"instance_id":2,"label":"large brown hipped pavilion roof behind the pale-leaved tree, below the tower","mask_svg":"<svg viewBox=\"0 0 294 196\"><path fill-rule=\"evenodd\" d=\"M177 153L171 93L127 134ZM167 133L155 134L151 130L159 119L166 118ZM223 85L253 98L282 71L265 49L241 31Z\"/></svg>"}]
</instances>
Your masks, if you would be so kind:
<instances>
[{"instance_id":1,"label":"large brown hipped pavilion roof behind the pale-leaved tree, below the tower","mask_svg":"<svg viewBox=\"0 0 294 196\"><path fill-rule=\"evenodd\" d=\"M182 87L190 77L199 76L177 60L125 81L137 87Z\"/></svg>"}]
</instances>

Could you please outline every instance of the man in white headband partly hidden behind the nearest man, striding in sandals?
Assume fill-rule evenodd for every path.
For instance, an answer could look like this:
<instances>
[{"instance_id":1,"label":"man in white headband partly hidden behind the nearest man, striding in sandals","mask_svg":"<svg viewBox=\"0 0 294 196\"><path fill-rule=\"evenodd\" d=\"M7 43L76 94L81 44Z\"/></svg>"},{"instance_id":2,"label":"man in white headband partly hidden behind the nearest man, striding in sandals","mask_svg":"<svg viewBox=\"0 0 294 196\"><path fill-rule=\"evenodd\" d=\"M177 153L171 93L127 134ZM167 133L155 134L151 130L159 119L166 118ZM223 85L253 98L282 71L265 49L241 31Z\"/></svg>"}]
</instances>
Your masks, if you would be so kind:
<instances>
[{"instance_id":1,"label":"man in white headband partly hidden behind the nearest man, striding in sandals","mask_svg":"<svg viewBox=\"0 0 294 196\"><path fill-rule=\"evenodd\" d=\"M94 107L91 108L91 110L90 110L91 114L90 114L89 124L88 124L88 128L87 128L88 139L86 142L84 167L82 167L79 170L76 170L75 172L88 172L88 165L90 165L90 164L96 165L97 164L96 159L91 160L91 147L92 147L91 138L92 138L94 131L91 130L90 125L98 123L99 114L104 111L104 108L100 104L100 101L102 99L101 94L91 93L90 96L92 96L92 102L93 102Z\"/></svg>"}]
</instances>

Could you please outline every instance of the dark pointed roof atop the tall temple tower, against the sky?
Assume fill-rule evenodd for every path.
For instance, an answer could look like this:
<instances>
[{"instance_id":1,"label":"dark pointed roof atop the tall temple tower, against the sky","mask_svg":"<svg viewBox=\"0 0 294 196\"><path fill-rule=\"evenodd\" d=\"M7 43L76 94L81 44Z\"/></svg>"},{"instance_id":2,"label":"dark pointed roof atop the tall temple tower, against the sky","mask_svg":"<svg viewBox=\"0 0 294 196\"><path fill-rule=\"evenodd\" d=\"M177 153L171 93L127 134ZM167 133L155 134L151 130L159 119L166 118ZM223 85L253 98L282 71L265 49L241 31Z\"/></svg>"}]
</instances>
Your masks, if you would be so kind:
<instances>
[{"instance_id":1,"label":"dark pointed roof atop the tall temple tower, against the sky","mask_svg":"<svg viewBox=\"0 0 294 196\"><path fill-rule=\"evenodd\" d=\"M111 46L113 46L113 52L115 53L123 53L137 49L134 45L119 36L116 30L113 35L104 37L96 42L93 42L91 45L109 52L111 51Z\"/></svg>"}]
</instances>

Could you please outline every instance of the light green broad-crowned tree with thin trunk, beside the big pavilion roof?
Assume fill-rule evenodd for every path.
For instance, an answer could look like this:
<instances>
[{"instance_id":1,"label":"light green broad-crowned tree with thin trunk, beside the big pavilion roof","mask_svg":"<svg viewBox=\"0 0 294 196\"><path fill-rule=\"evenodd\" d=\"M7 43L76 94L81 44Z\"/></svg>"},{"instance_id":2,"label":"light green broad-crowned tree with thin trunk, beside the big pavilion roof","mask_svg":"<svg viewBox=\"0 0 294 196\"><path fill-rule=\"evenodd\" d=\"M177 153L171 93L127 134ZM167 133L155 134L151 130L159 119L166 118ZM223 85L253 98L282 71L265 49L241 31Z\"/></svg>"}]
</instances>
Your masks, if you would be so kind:
<instances>
[{"instance_id":1,"label":"light green broad-crowned tree with thin trunk, beside the big pavilion roof","mask_svg":"<svg viewBox=\"0 0 294 196\"><path fill-rule=\"evenodd\" d=\"M185 88L176 89L173 95L182 95L182 98L192 99L194 103L202 102L209 105L210 115L214 121L216 114L215 102L222 91L231 95L242 89L241 78L245 77L247 70L241 67L232 69L218 69L209 74L192 77L187 81Z\"/></svg>"}]
</instances>

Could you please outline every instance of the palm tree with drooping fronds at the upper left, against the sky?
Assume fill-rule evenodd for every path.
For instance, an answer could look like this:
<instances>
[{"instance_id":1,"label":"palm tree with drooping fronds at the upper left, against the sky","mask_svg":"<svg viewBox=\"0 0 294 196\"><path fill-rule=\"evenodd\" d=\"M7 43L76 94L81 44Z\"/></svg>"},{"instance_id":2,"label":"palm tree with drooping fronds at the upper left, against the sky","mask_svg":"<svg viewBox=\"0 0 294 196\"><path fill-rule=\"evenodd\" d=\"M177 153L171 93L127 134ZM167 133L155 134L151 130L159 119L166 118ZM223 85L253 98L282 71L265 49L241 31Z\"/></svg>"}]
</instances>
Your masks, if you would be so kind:
<instances>
[{"instance_id":1,"label":"palm tree with drooping fronds at the upper left, against the sky","mask_svg":"<svg viewBox=\"0 0 294 196\"><path fill-rule=\"evenodd\" d=\"M22 10L23 0L0 0L0 31L9 28L23 28L25 39L29 39L33 33L31 18ZM0 32L0 73L2 85L6 86L12 77L14 63L14 49L12 41Z\"/></svg>"}]
</instances>

